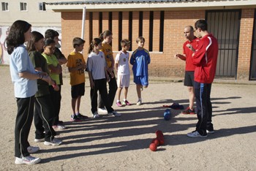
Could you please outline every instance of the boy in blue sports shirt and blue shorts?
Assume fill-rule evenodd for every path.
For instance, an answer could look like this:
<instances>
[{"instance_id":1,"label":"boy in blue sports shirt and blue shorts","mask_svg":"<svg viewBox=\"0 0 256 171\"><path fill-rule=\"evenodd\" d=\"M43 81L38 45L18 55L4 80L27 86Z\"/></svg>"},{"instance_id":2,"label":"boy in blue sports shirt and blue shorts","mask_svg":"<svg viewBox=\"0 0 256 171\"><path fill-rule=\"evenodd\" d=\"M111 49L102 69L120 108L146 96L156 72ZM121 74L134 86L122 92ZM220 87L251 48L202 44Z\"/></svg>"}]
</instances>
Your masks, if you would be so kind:
<instances>
[{"instance_id":1,"label":"boy in blue sports shirt and blue shorts","mask_svg":"<svg viewBox=\"0 0 256 171\"><path fill-rule=\"evenodd\" d=\"M143 48L145 39L143 37L138 37L136 42L138 49L132 53L129 63L133 65L133 82L136 84L138 94L137 105L141 105L142 100L140 88L143 90L143 88L148 87L148 64L150 64L150 56L148 50Z\"/></svg>"}]
</instances>

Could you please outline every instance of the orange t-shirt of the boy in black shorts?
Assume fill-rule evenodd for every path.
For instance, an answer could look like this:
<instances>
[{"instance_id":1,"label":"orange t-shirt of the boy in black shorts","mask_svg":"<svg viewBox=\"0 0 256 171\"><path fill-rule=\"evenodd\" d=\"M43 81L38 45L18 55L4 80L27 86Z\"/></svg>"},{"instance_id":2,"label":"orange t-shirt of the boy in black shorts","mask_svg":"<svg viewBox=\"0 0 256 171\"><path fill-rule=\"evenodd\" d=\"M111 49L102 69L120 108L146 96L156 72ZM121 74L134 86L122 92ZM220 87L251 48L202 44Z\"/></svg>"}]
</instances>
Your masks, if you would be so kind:
<instances>
[{"instance_id":1,"label":"orange t-shirt of the boy in black shorts","mask_svg":"<svg viewBox=\"0 0 256 171\"><path fill-rule=\"evenodd\" d=\"M70 53L69 56L67 56L67 67L75 68L77 66L80 66L82 64L85 64L83 55L81 53ZM69 72L70 75L70 85L75 86L80 83L85 83L86 78L84 75L84 69L78 69L75 72Z\"/></svg>"}]
</instances>

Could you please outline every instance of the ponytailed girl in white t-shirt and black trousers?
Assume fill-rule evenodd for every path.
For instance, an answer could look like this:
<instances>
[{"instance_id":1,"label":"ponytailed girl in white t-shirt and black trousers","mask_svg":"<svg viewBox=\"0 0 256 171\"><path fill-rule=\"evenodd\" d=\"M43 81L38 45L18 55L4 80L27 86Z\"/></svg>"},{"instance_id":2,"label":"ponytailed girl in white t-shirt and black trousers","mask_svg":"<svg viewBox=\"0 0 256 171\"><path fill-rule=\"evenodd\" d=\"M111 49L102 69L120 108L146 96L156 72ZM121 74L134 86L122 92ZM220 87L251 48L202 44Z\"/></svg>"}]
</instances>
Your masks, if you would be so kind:
<instances>
[{"instance_id":1,"label":"ponytailed girl in white t-shirt and black trousers","mask_svg":"<svg viewBox=\"0 0 256 171\"><path fill-rule=\"evenodd\" d=\"M116 113L115 110L111 107L110 101L108 99L108 91L106 85L107 80L110 80L110 77L107 72L106 61L104 53L99 51L102 49L102 40L95 38L92 40L91 45L88 48L88 75L90 79L91 86L91 112L94 118L99 118L97 113L97 91L99 91L100 96L102 96L102 101L105 104L105 107L108 110L108 115L110 116L121 116L121 114Z\"/></svg>"}]
</instances>

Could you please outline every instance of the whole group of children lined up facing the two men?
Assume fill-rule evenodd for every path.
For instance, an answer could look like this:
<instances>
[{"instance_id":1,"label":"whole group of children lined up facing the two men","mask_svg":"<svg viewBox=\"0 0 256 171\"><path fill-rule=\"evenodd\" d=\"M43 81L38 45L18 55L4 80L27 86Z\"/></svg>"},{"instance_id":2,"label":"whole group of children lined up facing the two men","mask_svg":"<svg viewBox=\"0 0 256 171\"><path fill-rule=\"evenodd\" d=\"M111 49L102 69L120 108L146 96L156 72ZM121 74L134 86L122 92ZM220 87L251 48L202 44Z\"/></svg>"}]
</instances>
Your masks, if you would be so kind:
<instances>
[{"instance_id":1,"label":"whole group of children lined up facing the two men","mask_svg":"<svg viewBox=\"0 0 256 171\"><path fill-rule=\"evenodd\" d=\"M31 32L31 25L23 20L12 24L7 37L7 52L10 56L10 72L12 83L15 86L18 113L15 122L15 164L37 164L40 158L30 156L30 153L39 151L39 147L29 145L28 136L34 115L36 128L35 142L45 145L60 145L56 139L55 128L65 129L59 121L61 107L62 64L67 63L71 85L72 121L88 119L80 114L80 99L85 92L85 70L89 74L91 113L99 118L97 111L118 117L111 107L117 91L116 105L130 105L127 101L129 88L129 63L132 64L134 82L138 93L138 105L142 103L140 88L148 87L148 64L150 56L144 49L145 39L138 37L138 49L132 53L129 60L128 50L130 41L121 40L121 51L113 59L110 46L112 32L104 31L99 38L94 38L89 45L87 64L83 55L85 41L79 37L73 39L74 50L67 58L56 47L59 34L54 30L45 31L45 37L37 31ZM27 43L25 47L23 44ZM113 72L114 66L118 75ZM107 85L109 84L109 92ZM120 101L121 90L124 88L124 101ZM99 106L97 107L97 91L99 91ZM97 110L98 108L98 110Z\"/></svg>"}]
</instances>

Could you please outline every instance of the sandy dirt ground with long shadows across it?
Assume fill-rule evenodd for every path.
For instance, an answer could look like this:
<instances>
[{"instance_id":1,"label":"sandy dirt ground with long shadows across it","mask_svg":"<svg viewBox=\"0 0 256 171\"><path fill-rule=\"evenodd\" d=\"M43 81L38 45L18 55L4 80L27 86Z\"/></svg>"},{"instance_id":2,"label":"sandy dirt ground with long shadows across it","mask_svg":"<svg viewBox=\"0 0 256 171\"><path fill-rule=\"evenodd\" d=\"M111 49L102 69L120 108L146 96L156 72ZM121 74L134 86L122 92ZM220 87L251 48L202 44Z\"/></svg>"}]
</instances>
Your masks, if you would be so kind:
<instances>
[{"instance_id":1,"label":"sandy dirt ground with long shadows across it","mask_svg":"<svg viewBox=\"0 0 256 171\"><path fill-rule=\"evenodd\" d=\"M10 69L0 67L0 170L256 170L256 107L255 85L213 84L214 134L207 138L190 138L195 130L196 115L170 110L171 119L165 121L162 105L173 102L188 107L188 91L183 83L153 82L142 91L143 105L137 106L135 84L130 84L128 101L131 106L113 108L121 117L100 115L91 118L89 80L81 99L80 113L88 121L70 121L70 85L64 78L60 120L67 129L57 130L59 146L34 142L34 123L29 142L40 151L36 165L15 165L14 127L17 113ZM122 92L123 93L123 92ZM121 99L123 94L121 94ZM157 151L148 146L162 130L165 144Z\"/></svg>"}]
</instances>

